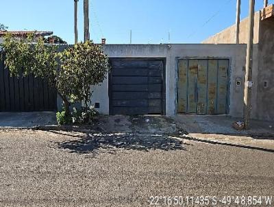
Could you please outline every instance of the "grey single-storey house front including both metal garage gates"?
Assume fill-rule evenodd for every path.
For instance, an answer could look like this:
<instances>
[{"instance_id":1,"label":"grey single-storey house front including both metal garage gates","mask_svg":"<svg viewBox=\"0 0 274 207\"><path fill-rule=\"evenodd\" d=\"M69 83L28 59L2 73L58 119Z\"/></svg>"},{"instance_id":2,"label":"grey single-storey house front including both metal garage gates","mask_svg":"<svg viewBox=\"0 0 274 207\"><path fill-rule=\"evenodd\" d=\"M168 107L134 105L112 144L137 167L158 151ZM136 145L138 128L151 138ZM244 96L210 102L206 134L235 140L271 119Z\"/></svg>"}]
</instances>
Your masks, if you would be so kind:
<instances>
[{"instance_id":1,"label":"grey single-storey house front including both metal garage gates","mask_svg":"<svg viewBox=\"0 0 274 207\"><path fill-rule=\"evenodd\" d=\"M104 45L104 51L112 72L92 86L101 114L242 116L246 45Z\"/></svg>"}]
</instances>

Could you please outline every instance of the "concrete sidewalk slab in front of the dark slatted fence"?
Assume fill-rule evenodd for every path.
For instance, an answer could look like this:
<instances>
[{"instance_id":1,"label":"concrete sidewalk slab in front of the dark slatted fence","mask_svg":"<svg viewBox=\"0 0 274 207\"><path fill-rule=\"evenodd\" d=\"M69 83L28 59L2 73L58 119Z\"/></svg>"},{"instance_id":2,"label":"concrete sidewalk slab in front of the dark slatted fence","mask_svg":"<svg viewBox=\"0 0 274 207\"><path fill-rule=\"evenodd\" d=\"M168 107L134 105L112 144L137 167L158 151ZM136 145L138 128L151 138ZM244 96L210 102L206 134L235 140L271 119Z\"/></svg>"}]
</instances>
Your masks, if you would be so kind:
<instances>
[{"instance_id":1,"label":"concrete sidewalk slab in front of the dark slatted fence","mask_svg":"<svg viewBox=\"0 0 274 207\"><path fill-rule=\"evenodd\" d=\"M36 127L56 125L55 112L1 112L0 127Z\"/></svg>"}]
</instances>

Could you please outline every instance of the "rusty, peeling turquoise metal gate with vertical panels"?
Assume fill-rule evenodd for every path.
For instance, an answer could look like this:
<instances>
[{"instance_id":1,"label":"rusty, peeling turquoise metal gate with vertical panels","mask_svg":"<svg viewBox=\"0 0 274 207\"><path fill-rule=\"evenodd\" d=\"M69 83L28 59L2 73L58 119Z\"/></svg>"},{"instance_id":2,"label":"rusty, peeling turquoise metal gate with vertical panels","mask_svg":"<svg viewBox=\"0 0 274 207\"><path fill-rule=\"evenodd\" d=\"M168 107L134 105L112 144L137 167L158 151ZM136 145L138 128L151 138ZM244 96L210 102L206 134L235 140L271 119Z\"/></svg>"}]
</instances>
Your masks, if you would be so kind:
<instances>
[{"instance_id":1,"label":"rusty, peeling turquoise metal gate with vertical panels","mask_svg":"<svg viewBox=\"0 0 274 207\"><path fill-rule=\"evenodd\" d=\"M179 113L227 114L229 60L179 60Z\"/></svg>"}]
</instances>

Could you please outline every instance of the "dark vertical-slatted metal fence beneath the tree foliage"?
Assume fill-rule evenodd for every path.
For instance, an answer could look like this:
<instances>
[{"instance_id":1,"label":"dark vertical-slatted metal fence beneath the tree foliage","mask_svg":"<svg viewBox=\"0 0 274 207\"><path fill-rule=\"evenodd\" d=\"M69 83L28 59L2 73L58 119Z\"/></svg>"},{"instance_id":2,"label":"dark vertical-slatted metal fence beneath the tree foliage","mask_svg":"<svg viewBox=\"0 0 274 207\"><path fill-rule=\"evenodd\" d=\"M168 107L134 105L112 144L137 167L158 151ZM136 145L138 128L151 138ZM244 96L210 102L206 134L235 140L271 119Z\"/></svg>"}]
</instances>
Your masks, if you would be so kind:
<instances>
[{"instance_id":1,"label":"dark vertical-slatted metal fence beneath the tree foliage","mask_svg":"<svg viewBox=\"0 0 274 207\"><path fill-rule=\"evenodd\" d=\"M33 75L10 77L3 58L0 59L0 112L57 110L55 88Z\"/></svg>"}]
</instances>

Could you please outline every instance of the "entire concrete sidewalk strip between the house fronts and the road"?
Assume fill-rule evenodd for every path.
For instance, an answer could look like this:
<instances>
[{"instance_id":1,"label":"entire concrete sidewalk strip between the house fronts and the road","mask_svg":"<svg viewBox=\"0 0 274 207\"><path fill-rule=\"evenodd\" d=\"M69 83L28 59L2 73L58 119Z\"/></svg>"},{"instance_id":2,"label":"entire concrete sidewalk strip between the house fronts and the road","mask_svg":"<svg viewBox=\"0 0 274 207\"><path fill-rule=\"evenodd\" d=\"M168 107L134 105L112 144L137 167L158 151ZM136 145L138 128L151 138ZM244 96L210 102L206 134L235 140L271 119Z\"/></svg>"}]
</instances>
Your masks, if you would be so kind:
<instances>
[{"instance_id":1,"label":"entire concrete sidewalk strip between the house fronts and the road","mask_svg":"<svg viewBox=\"0 0 274 207\"><path fill-rule=\"evenodd\" d=\"M163 116L102 116L95 125L71 126L69 131L92 130L98 132L124 132L132 134L170 134L206 143L232 145L262 151L274 151L274 126L269 121L252 121L251 130L237 131L232 123L238 121L227 116L179 114L174 119ZM0 128L36 128L66 130L56 125L55 112L3 112ZM177 134L179 132L179 134Z\"/></svg>"}]
</instances>

